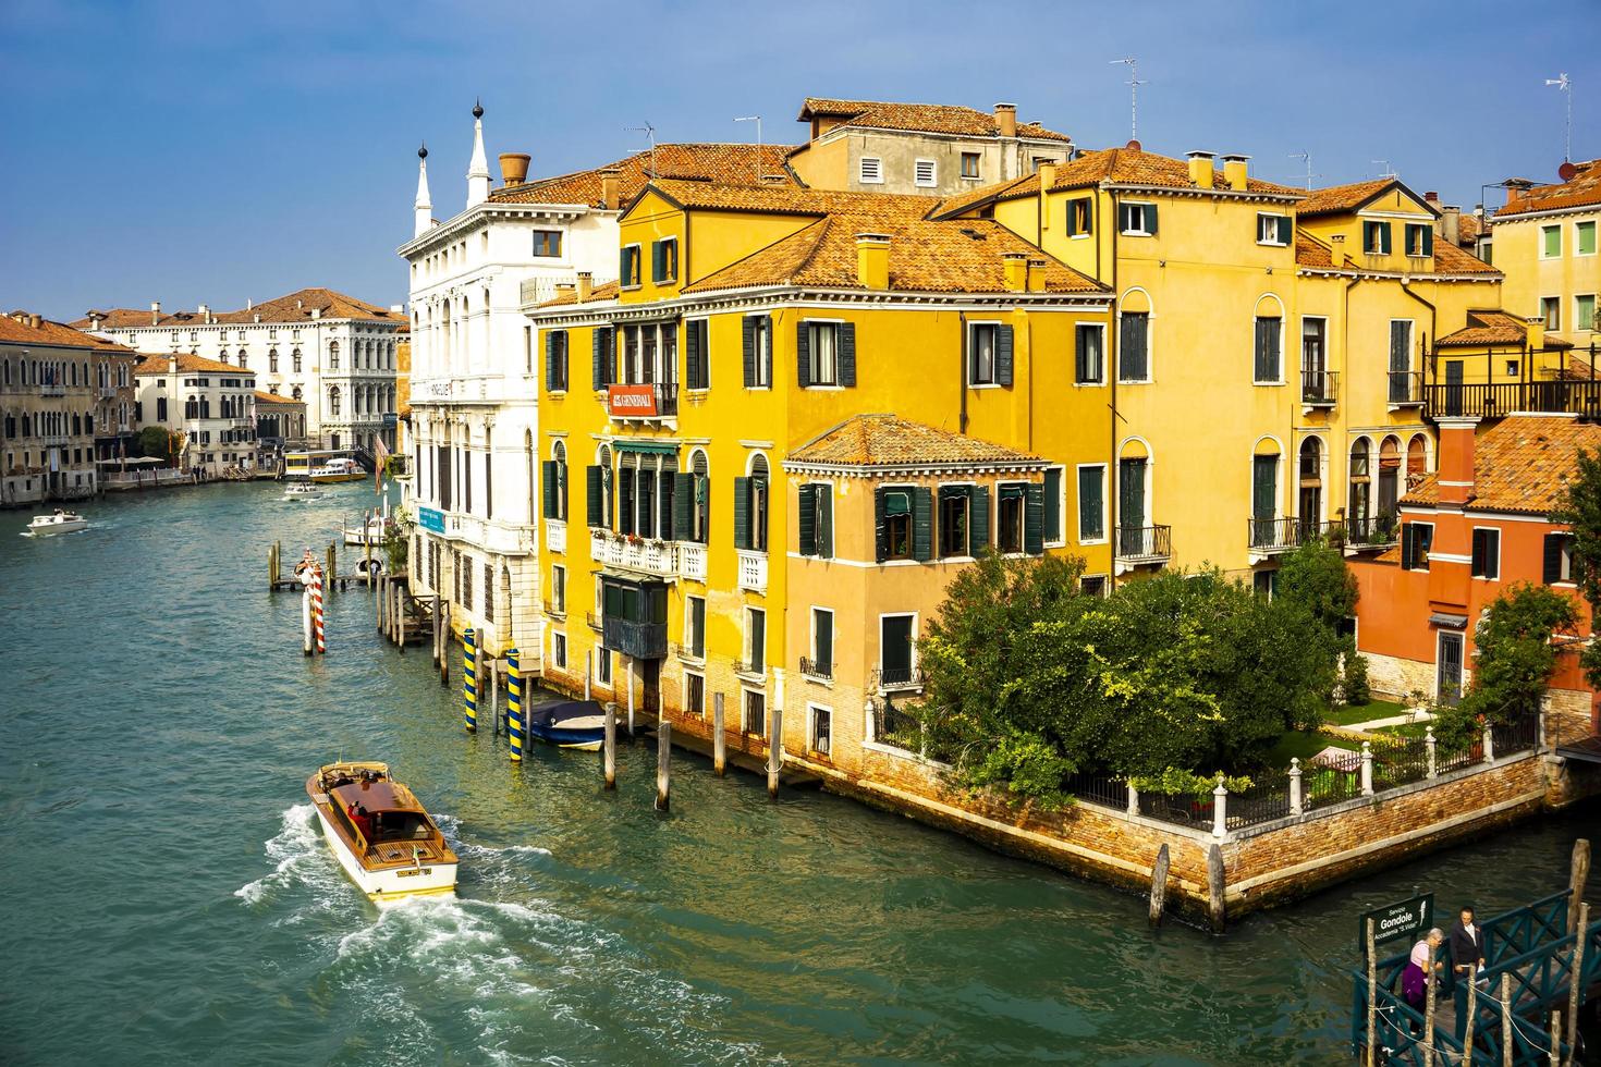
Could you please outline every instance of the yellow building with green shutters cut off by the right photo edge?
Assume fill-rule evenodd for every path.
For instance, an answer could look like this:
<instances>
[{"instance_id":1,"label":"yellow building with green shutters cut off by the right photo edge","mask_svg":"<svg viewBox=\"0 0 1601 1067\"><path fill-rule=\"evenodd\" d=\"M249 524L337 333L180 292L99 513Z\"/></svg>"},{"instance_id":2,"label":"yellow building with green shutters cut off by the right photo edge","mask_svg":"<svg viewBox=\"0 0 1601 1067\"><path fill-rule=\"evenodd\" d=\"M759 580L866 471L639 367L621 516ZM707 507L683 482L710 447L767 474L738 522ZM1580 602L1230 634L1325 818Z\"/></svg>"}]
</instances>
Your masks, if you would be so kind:
<instances>
[{"instance_id":1,"label":"yellow building with green shutters cut off by the right photo edge","mask_svg":"<svg viewBox=\"0 0 1601 1067\"><path fill-rule=\"evenodd\" d=\"M1561 341L1596 341L1601 293L1601 160L1564 163L1561 181L1508 179L1507 205L1492 219L1495 266L1507 274L1505 307L1539 317Z\"/></svg>"}]
</instances>

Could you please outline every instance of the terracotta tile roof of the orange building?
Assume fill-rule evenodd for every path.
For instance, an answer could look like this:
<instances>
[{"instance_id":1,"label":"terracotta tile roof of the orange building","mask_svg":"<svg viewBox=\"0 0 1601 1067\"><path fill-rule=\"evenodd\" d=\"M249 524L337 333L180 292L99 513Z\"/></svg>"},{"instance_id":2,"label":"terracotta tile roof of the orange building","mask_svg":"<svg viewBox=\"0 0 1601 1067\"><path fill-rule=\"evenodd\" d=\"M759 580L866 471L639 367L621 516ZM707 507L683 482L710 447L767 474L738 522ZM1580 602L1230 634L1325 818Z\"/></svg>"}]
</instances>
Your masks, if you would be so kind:
<instances>
[{"instance_id":1,"label":"terracotta tile roof of the orange building","mask_svg":"<svg viewBox=\"0 0 1601 1067\"><path fill-rule=\"evenodd\" d=\"M1468 510L1547 515L1567 501L1579 450L1601 451L1601 424L1551 414L1515 414L1473 442L1473 499ZM1402 504L1438 504L1439 474Z\"/></svg>"}]
</instances>

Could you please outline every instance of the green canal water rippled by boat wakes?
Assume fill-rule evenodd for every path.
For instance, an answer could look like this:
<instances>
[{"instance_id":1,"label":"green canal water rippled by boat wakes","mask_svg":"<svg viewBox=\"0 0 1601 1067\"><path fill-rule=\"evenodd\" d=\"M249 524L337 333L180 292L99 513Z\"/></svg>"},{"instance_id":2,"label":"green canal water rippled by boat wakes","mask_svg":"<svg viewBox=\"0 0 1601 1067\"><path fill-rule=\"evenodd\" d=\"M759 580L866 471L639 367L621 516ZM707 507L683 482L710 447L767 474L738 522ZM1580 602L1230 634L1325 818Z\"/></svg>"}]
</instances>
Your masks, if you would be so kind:
<instances>
[{"instance_id":1,"label":"green canal water rippled by boat wakes","mask_svg":"<svg viewBox=\"0 0 1601 1067\"><path fill-rule=\"evenodd\" d=\"M461 729L427 656L360 592L328 654L266 549L319 550L370 485L0 514L0 1062L1335 1064L1356 915L1434 889L1499 910L1566 878L1595 809L1250 917L1145 928L1145 902L839 797ZM459 670L453 673L459 683ZM304 781L379 758L443 813L455 901L378 912Z\"/></svg>"}]
</instances>

